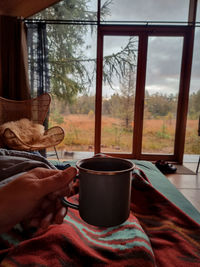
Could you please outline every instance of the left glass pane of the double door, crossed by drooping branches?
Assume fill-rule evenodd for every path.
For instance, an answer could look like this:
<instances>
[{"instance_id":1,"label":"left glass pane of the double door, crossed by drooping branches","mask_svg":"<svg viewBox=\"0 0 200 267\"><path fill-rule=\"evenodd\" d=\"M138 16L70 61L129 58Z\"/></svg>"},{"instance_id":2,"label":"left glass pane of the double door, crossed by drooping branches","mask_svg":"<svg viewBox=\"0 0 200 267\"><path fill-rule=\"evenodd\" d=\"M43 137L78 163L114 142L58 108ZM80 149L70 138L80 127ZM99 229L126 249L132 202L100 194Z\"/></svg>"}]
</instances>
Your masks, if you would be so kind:
<instances>
[{"instance_id":1,"label":"left glass pane of the double door, crossed by drooping branches","mask_svg":"<svg viewBox=\"0 0 200 267\"><path fill-rule=\"evenodd\" d=\"M132 152L138 37L105 36L102 152Z\"/></svg>"}]
</instances>

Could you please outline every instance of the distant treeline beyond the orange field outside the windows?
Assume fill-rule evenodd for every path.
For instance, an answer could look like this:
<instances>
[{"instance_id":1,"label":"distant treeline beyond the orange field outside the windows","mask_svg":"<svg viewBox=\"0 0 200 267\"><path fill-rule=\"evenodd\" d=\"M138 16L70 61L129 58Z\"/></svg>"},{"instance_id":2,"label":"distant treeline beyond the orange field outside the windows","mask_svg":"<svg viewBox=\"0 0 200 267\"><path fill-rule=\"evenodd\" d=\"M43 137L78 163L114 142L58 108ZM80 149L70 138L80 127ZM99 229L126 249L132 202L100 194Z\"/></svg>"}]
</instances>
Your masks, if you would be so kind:
<instances>
[{"instance_id":1,"label":"distant treeline beyond the orange field outside the windows","mask_svg":"<svg viewBox=\"0 0 200 267\"><path fill-rule=\"evenodd\" d=\"M148 119L164 116L174 117L177 110L177 95L164 95L161 93L148 94L145 97L145 116ZM112 117L130 120L134 110L134 96L113 94L110 98L103 98L102 114ZM79 96L73 104L66 107L66 104L57 103L59 113L70 114L93 114L95 109L95 96ZM200 116L200 90L190 95L188 116L190 119L197 119Z\"/></svg>"}]
</instances>

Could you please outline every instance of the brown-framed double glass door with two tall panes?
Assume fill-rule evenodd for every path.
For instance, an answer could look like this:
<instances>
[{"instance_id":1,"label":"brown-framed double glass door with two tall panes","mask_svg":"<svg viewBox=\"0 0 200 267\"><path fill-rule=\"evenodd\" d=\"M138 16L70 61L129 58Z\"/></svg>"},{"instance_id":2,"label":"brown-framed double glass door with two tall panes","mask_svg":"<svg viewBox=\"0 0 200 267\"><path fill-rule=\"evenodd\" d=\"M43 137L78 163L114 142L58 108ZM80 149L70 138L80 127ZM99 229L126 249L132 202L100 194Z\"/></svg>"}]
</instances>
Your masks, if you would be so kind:
<instances>
[{"instance_id":1,"label":"brown-framed double glass door with two tall panes","mask_svg":"<svg viewBox=\"0 0 200 267\"><path fill-rule=\"evenodd\" d=\"M95 153L182 161L191 40L186 27L99 28Z\"/></svg>"}]
</instances>

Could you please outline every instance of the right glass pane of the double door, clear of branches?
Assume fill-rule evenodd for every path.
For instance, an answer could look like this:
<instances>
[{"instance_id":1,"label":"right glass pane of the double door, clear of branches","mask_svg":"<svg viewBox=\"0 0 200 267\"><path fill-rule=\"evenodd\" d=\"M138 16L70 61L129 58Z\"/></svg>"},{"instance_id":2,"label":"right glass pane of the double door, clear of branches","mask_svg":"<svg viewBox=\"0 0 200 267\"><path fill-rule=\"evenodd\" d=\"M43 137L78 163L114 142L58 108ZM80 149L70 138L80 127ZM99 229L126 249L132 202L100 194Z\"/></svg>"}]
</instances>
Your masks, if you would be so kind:
<instances>
[{"instance_id":1,"label":"right glass pane of the double door, clear of branches","mask_svg":"<svg viewBox=\"0 0 200 267\"><path fill-rule=\"evenodd\" d=\"M149 38L143 153L174 153L182 46L182 37Z\"/></svg>"}]
</instances>

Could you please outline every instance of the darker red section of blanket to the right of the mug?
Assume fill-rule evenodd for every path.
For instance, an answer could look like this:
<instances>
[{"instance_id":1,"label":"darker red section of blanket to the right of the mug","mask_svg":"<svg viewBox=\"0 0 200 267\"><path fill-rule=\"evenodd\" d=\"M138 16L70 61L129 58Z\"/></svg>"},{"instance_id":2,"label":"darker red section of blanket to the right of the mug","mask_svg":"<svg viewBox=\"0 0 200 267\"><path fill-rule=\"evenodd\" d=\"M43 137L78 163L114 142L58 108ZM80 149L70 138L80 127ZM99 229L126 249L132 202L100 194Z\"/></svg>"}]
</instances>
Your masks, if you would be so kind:
<instances>
[{"instance_id":1,"label":"darker red section of blanket to the right of the mug","mask_svg":"<svg viewBox=\"0 0 200 267\"><path fill-rule=\"evenodd\" d=\"M199 267L200 225L140 173L133 180L132 210L150 238L157 266Z\"/></svg>"}]
</instances>

